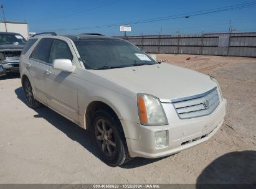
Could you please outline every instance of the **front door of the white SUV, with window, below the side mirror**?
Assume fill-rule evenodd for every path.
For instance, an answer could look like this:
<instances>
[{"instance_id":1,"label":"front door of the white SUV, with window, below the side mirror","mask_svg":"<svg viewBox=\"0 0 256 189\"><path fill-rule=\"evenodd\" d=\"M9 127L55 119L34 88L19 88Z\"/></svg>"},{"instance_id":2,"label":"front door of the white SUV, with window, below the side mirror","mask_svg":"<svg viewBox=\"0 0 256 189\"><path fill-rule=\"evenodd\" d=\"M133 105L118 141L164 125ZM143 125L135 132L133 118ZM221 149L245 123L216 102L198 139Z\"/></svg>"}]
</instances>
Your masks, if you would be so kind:
<instances>
[{"instance_id":1,"label":"front door of the white SUV, with window, below the side mirror","mask_svg":"<svg viewBox=\"0 0 256 189\"><path fill-rule=\"evenodd\" d=\"M52 68L55 59L73 60L69 42L55 39L50 50L49 63L46 64L49 74L46 75L45 89L47 104L72 121L78 122L77 78L75 73Z\"/></svg>"}]
</instances>

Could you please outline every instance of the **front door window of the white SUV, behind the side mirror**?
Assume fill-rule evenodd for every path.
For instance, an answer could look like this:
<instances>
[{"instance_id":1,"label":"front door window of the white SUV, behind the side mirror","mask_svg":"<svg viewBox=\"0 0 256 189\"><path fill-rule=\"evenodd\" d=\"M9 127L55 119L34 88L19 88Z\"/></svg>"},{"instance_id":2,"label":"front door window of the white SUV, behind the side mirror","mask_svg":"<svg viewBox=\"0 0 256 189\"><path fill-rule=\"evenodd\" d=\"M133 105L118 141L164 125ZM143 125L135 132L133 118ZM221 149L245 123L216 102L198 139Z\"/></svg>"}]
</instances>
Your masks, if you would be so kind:
<instances>
[{"instance_id":1,"label":"front door window of the white SUV, behind the side mirror","mask_svg":"<svg viewBox=\"0 0 256 189\"><path fill-rule=\"evenodd\" d=\"M54 44L52 44L52 49L50 50L49 63L52 64L55 59L73 60L73 55L66 42L57 39L54 40Z\"/></svg>"}]
</instances>

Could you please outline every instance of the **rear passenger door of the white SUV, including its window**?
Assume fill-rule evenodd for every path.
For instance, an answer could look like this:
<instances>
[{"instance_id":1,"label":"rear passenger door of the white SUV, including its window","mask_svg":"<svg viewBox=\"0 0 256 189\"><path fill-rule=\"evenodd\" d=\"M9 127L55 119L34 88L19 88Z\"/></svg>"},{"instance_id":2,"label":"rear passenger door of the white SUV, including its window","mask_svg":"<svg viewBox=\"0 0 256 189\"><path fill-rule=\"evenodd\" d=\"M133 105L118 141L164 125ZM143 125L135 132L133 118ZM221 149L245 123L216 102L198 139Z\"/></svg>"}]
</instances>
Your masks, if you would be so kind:
<instances>
[{"instance_id":1,"label":"rear passenger door of the white SUV, including its window","mask_svg":"<svg viewBox=\"0 0 256 189\"><path fill-rule=\"evenodd\" d=\"M34 95L45 104L47 104L45 78L49 74L45 65L49 63L50 49L53 42L54 39L41 39L31 53L29 64L27 65L34 85Z\"/></svg>"}]
</instances>

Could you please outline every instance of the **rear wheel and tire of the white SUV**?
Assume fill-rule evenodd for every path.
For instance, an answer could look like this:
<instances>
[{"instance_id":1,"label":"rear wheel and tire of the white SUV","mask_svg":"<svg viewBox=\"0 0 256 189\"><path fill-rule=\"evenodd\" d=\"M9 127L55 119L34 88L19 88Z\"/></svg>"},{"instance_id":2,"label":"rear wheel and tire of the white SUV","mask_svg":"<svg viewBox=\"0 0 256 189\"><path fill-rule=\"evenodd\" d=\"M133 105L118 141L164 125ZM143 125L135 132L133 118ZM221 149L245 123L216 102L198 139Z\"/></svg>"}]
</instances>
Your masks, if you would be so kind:
<instances>
[{"instance_id":1,"label":"rear wheel and tire of the white SUV","mask_svg":"<svg viewBox=\"0 0 256 189\"><path fill-rule=\"evenodd\" d=\"M38 108L42 105L41 103L39 103L39 101L37 101L34 98L31 82L29 81L28 78L25 78L24 81L22 82L22 88L24 90L24 93L26 96L26 101L27 101L27 106L29 106L29 108L34 109L34 108Z\"/></svg>"}]
</instances>

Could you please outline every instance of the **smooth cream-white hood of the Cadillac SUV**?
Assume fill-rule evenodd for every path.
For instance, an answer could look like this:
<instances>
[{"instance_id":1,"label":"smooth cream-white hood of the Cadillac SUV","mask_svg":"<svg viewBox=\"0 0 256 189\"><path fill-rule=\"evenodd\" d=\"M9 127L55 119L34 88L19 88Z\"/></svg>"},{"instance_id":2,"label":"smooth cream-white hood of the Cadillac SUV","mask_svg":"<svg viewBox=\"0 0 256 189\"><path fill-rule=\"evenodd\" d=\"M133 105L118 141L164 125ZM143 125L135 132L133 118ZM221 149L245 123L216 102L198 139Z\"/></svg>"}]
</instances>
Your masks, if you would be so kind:
<instances>
[{"instance_id":1,"label":"smooth cream-white hood of the Cadillac SUV","mask_svg":"<svg viewBox=\"0 0 256 189\"><path fill-rule=\"evenodd\" d=\"M135 93L151 94L161 101L201 94L216 86L207 75L167 63L93 72Z\"/></svg>"}]
</instances>

